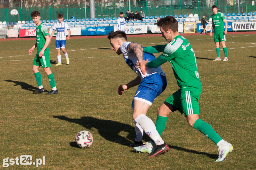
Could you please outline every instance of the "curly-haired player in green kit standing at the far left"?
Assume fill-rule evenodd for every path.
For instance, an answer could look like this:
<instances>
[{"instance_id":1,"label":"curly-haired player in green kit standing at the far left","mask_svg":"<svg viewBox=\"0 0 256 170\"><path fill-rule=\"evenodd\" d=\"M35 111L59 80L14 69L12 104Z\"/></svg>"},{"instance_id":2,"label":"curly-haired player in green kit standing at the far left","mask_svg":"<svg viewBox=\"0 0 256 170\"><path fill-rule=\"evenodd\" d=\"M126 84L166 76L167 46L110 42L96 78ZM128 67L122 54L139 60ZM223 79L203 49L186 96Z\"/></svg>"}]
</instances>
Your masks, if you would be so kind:
<instances>
[{"instance_id":1,"label":"curly-haired player in green kit standing at the far left","mask_svg":"<svg viewBox=\"0 0 256 170\"><path fill-rule=\"evenodd\" d=\"M37 47L37 54L35 56L32 70L36 76L36 82L38 84L38 89L33 92L34 94L42 93L45 91L42 86L41 74L38 71L39 66L41 65L44 69L45 73L49 78L49 82L52 90L46 94L57 94L58 90L55 86L54 75L51 72L50 66L50 57L49 57L49 48L48 44L50 42L50 36L48 32L48 28L44 26L44 24L40 21L40 12L33 11L30 13L34 23L36 24L36 43L35 45L29 49L29 54L32 54L32 51Z\"/></svg>"}]
</instances>

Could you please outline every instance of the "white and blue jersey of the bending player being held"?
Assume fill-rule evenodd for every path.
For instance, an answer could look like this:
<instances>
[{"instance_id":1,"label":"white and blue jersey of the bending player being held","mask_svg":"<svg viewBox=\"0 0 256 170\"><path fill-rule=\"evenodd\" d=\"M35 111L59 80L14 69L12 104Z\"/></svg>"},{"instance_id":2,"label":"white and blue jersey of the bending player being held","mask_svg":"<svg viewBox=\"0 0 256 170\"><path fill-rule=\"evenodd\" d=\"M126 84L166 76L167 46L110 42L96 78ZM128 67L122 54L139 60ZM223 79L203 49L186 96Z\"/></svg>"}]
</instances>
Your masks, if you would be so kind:
<instances>
[{"instance_id":1,"label":"white and blue jersey of the bending player being held","mask_svg":"<svg viewBox=\"0 0 256 170\"><path fill-rule=\"evenodd\" d=\"M131 53L129 50L128 50L128 47L130 45L131 42L124 42L122 43L121 45L121 52L123 53L123 56L124 56L124 60L126 62L127 65L129 65L129 67L141 78L141 80L143 80L144 77L147 77L151 74L155 74L155 73L159 73L161 75L165 75L164 72L162 71L161 69L161 66L157 67L157 68L146 68L146 74L142 74L141 72L141 69L138 68L136 69L135 68L135 65L137 63L137 57L134 53ZM146 53L146 52L143 52L143 60L147 60L148 61L152 61L155 58L155 56L152 54L152 53Z\"/></svg>"}]
</instances>

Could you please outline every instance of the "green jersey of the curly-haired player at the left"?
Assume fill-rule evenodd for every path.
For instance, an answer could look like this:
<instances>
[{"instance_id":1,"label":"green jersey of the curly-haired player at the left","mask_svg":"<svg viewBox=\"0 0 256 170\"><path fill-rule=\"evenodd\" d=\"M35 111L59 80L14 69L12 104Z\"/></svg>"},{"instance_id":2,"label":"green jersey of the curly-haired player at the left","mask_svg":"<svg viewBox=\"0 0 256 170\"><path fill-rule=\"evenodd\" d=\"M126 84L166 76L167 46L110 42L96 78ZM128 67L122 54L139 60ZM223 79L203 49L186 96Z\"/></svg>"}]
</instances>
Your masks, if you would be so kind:
<instances>
[{"instance_id":1,"label":"green jersey of the curly-haired player at the left","mask_svg":"<svg viewBox=\"0 0 256 170\"><path fill-rule=\"evenodd\" d=\"M44 26L43 23L41 23L37 28L36 28L36 43L37 43L37 54L42 50L42 48L45 45L45 36L49 36L48 28ZM45 49L45 53L49 54L49 48L47 47Z\"/></svg>"}]
</instances>

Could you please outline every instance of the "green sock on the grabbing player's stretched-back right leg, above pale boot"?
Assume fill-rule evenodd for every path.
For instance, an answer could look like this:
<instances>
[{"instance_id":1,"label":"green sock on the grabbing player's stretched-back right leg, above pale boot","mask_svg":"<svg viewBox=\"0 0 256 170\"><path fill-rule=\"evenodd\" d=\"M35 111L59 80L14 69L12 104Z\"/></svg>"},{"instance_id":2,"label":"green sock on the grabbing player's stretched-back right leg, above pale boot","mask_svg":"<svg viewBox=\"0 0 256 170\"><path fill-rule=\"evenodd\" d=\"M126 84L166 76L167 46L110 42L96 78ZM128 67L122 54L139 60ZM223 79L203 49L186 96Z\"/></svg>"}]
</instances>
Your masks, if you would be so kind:
<instances>
[{"instance_id":1,"label":"green sock on the grabbing player's stretched-back right leg, above pale boot","mask_svg":"<svg viewBox=\"0 0 256 170\"><path fill-rule=\"evenodd\" d=\"M193 128L202 132L206 137L210 138L215 144L217 144L222 138L216 133L211 125L202 121L201 119L197 119L194 123Z\"/></svg>"}]
</instances>

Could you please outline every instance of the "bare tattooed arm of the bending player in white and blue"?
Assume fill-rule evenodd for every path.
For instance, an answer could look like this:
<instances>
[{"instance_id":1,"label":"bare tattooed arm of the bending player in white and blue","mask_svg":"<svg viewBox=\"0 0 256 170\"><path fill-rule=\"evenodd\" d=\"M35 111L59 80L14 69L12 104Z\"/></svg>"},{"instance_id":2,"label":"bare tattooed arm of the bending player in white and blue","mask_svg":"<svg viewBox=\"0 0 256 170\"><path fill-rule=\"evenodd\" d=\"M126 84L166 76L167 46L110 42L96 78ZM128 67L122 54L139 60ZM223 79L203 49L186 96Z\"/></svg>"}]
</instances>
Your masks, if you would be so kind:
<instances>
[{"instance_id":1,"label":"bare tattooed arm of the bending player in white and blue","mask_svg":"<svg viewBox=\"0 0 256 170\"><path fill-rule=\"evenodd\" d=\"M134 53L137 57L138 62L140 63L140 69L142 74L146 74L146 67L143 65L143 50L140 44L136 44L134 42L131 42L128 46L128 50L131 53Z\"/></svg>"}]
</instances>

